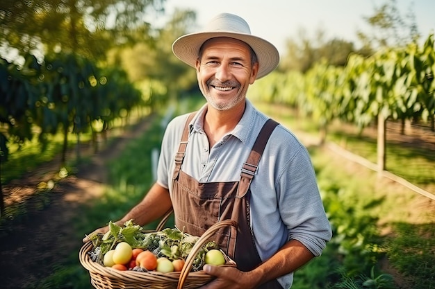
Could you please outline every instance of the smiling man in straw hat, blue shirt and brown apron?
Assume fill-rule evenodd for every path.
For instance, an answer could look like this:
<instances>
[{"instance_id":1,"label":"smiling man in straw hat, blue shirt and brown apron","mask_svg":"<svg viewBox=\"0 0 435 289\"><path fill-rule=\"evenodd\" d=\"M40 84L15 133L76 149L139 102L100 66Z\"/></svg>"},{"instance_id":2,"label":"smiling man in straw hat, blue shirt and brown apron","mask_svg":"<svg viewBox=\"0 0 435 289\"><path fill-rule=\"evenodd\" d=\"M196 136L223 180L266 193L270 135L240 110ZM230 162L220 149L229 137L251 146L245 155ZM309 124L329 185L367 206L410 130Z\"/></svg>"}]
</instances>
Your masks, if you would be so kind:
<instances>
[{"instance_id":1,"label":"smiling man in straw hat, blue shirt and brown apron","mask_svg":"<svg viewBox=\"0 0 435 289\"><path fill-rule=\"evenodd\" d=\"M172 207L176 226L201 236L231 218L237 229L216 238L238 268L205 265L217 278L202 288L290 288L293 272L321 254L331 227L308 152L246 99L249 85L277 67L279 53L227 13L172 50L195 67L207 103L167 125L156 184L117 223L145 225Z\"/></svg>"}]
</instances>

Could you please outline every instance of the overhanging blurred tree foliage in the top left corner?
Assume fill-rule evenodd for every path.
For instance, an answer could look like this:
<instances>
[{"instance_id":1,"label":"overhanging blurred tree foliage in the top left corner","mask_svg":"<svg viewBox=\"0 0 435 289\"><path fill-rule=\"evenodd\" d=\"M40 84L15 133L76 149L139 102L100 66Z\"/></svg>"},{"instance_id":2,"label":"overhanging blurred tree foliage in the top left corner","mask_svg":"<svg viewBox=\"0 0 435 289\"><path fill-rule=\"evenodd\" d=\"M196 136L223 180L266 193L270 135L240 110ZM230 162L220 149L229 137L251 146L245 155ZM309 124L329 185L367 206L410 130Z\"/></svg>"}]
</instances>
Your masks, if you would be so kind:
<instances>
[{"instance_id":1,"label":"overhanging blurred tree foliage in the top left corner","mask_svg":"<svg viewBox=\"0 0 435 289\"><path fill-rule=\"evenodd\" d=\"M19 54L78 53L101 60L112 46L131 39L129 30L146 22L149 7L165 0L3 0L1 45ZM29 25L31 23L31 25Z\"/></svg>"}]
</instances>

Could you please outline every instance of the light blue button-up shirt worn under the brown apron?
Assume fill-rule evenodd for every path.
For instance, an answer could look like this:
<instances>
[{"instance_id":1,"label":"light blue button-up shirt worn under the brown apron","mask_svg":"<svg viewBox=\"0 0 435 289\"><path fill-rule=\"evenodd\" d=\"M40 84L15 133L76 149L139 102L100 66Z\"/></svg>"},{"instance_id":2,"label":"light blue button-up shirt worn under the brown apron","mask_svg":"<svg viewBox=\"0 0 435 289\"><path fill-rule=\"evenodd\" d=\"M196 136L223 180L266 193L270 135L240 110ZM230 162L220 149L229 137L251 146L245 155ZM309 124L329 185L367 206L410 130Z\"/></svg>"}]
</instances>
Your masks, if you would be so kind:
<instances>
[{"instance_id":1,"label":"light blue button-up shirt worn under the brown apron","mask_svg":"<svg viewBox=\"0 0 435 289\"><path fill-rule=\"evenodd\" d=\"M181 170L199 182L236 182L240 170L268 116L246 100L245 113L232 132L209 149L204 132L204 105L190 123L186 157ZM158 161L157 182L172 193L174 156L188 114L167 125ZM299 240L319 256L331 239L331 227L320 198L315 173L306 148L295 135L278 125L270 136L251 189L251 227L262 260L290 239ZM290 288L293 273L278 279Z\"/></svg>"}]
</instances>

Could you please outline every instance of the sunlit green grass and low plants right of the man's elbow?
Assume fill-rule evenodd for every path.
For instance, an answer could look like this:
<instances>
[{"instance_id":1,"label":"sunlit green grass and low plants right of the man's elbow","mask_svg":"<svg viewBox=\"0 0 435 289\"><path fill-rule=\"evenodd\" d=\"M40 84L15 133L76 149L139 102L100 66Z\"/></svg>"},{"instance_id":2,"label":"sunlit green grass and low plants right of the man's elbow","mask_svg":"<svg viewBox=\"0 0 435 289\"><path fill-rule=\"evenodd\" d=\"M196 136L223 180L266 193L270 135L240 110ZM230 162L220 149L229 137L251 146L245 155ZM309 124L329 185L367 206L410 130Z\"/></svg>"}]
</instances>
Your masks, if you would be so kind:
<instances>
[{"instance_id":1,"label":"sunlit green grass and low plants right of the man's elbow","mask_svg":"<svg viewBox=\"0 0 435 289\"><path fill-rule=\"evenodd\" d=\"M321 148L309 151L334 237L322 256L296 272L293 289L343 285L343 278L358 283L361 276L370 276L371 268L385 281L384 259L405 280L402 287L393 288L435 288L435 224L433 212L425 211L430 208L410 210L418 204L413 191L397 184L379 185L375 172L350 169ZM411 211L418 218L410 216ZM340 276L343 268L345 277Z\"/></svg>"}]
</instances>

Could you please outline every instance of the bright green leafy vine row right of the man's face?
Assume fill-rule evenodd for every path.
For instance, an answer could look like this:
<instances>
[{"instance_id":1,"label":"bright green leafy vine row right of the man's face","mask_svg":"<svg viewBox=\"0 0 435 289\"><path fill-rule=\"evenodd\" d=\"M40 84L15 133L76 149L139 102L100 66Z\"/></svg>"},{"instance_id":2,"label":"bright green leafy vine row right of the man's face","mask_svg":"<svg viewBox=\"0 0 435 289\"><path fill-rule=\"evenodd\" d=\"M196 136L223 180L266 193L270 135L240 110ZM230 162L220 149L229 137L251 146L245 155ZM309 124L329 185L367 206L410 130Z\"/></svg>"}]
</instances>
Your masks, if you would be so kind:
<instances>
[{"instance_id":1,"label":"bright green leafy vine row right of the man's face","mask_svg":"<svg viewBox=\"0 0 435 289\"><path fill-rule=\"evenodd\" d=\"M350 55L345 67L322 62L306 73L275 73L258 82L252 95L297 107L319 127L334 119L360 128L384 119L420 119L434 130L434 35L425 44L384 49L370 58Z\"/></svg>"}]
</instances>

